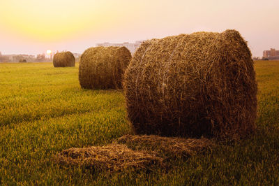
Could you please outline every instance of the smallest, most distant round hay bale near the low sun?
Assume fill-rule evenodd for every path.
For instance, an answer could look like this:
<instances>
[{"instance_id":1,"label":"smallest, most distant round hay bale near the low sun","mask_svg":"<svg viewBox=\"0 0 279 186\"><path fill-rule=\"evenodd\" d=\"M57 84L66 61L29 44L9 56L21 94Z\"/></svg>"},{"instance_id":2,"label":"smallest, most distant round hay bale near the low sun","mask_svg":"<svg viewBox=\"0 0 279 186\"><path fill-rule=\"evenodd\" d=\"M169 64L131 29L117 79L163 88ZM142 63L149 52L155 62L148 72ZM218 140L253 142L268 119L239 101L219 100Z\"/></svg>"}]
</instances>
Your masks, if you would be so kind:
<instances>
[{"instance_id":1,"label":"smallest, most distant round hay bale near the low sun","mask_svg":"<svg viewBox=\"0 0 279 186\"><path fill-rule=\"evenodd\" d=\"M54 67L75 66L75 57L72 52L58 52L53 57Z\"/></svg>"}]
</instances>

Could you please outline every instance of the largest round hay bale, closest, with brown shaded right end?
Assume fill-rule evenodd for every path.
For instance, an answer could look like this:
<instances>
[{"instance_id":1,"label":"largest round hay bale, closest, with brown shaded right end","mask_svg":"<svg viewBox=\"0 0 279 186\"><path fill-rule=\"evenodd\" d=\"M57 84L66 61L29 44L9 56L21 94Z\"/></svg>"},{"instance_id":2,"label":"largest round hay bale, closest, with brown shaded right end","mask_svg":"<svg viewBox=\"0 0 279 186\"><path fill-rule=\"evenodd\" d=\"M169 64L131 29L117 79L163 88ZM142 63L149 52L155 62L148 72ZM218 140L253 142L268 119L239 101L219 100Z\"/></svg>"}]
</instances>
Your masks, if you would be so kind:
<instances>
[{"instance_id":1,"label":"largest round hay bale, closest, with brown shaded right end","mask_svg":"<svg viewBox=\"0 0 279 186\"><path fill-rule=\"evenodd\" d=\"M136 134L238 139L255 129L253 61L235 30L146 41L123 86Z\"/></svg>"}]
</instances>

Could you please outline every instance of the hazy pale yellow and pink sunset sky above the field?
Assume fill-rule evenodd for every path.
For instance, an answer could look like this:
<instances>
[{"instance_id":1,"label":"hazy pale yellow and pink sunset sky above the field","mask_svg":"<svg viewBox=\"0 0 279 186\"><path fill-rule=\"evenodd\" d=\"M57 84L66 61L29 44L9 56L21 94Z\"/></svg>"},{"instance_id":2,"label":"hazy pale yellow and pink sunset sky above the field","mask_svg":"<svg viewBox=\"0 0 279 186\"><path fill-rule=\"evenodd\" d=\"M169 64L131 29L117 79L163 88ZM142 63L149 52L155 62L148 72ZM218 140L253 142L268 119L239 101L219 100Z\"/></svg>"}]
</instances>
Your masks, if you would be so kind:
<instances>
[{"instance_id":1,"label":"hazy pale yellow and pink sunset sky above the field","mask_svg":"<svg viewBox=\"0 0 279 186\"><path fill-rule=\"evenodd\" d=\"M0 52L82 53L195 31L238 30L254 57L279 50L279 0L0 0Z\"/></svg>"}]
</instances>

